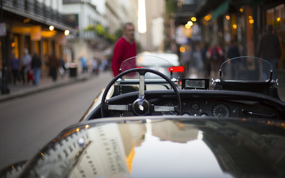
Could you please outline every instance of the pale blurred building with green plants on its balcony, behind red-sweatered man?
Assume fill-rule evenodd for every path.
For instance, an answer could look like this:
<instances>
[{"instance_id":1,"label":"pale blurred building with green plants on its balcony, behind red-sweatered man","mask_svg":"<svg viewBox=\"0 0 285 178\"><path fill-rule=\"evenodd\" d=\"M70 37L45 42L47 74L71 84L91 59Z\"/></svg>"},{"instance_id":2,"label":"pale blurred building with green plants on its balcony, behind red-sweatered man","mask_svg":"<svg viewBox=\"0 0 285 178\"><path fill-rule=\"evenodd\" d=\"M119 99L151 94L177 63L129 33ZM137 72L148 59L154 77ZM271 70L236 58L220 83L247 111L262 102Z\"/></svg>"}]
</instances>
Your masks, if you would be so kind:
<instances>
[{"instance_id":1,"label":"pale blurred building with green plants on its balcony, behind red-sweatered man","mask_svg":"<svg viewBox=\"0 0 285 178\"><path fill-rule=\"evenodd\" d=\"M111 58L112 46L118 38L117 31L121 31L122 24L126 21L137 24L135 13L137 3L134 2L131 0L63 1L63 13L75 19L73 27L78 29L77 34L68 36L66 46L66 50L74 51L74 58L68 62L75 62L78 72L82 72L80 62L82 57L87 59L90 69L93 59L103 61Z\"/></svg>"}]
</instances>

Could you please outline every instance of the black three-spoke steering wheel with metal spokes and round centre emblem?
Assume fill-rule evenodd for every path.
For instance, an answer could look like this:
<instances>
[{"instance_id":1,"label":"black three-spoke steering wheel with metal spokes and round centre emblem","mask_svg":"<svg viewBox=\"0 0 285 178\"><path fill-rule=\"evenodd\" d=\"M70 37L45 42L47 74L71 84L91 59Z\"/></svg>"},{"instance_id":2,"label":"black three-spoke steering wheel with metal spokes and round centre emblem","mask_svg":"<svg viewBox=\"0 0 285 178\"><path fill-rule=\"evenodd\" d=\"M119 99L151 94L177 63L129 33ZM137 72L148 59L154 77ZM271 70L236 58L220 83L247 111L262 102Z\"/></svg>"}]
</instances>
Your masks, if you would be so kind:
<instances>
[{"instance_id":1,"label":"black three-spoke steering wheel with metal spokes and round centre emblem","mask_svg":"<svg viewBox=\"0 0 285 178\"><path fill-rule=\"evenodd\" d=\"M123 105L123 104L111 105L111 104L108 104L108 101L105 102L107 93L110 90L111 86L119 78L121 78L122 76L127 75L129 73L132 73L132 72L139 72L139 74L140 74L138 98L133 103L127 104L127 105ZM146 100L145 95L144 95L144 75L146 72L156 74L156 75L162 77L163 79L165 79L170 84L170 86L174 90L176 97L177 97L178 104L176 106L154 106L153 104L150 104ZM107 87L104 90L102 101L101 101L101 116L102 116L102 118L104 118L105 112L107 110L129 111L129 112L132 112L135 116L149 115L151 112L155 112L155 111L174 111L174 112L177 112L179 115L181 115L181 112L182 112L181 111L181 105L182 105L181 103L182 103L181 97L180 97L180 94L178 92L178 89L176 88L174 83L167 76L165 76L161 72L158 72L156 70L149 69L149 68L133 68L133 69L126 70L126 71L120 73L119 75L115 76L113 78L113 80L111 80L111 82L107 85Z\"/></svg>"}]
</instances>

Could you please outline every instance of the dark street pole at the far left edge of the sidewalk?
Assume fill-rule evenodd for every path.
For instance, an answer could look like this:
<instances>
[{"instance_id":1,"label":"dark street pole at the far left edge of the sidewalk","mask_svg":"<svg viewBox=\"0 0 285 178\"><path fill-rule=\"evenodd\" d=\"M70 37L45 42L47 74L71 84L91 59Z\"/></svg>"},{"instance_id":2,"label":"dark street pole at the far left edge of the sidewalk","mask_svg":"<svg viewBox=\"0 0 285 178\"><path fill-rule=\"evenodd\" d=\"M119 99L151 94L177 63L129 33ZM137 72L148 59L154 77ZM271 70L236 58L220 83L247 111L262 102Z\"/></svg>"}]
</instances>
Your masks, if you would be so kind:
<instances>
[{"instance_id":1,"label":"dark street pole at the far left edge of the sidewalk","mask_svg":"<svg viewBox=\"0 0 285 178\"><path fill-rule=\"evenodd\" d=\"M1 50L2 50L2 87L1 87L1 94L9 94L10 90L8 88L8 60L6 56L6 24L3 23L3 0L1 0L1 9L0 9L0 25L1 25ZM3 33L2 33L3 31Z\"/></svg>"}]
</instances>

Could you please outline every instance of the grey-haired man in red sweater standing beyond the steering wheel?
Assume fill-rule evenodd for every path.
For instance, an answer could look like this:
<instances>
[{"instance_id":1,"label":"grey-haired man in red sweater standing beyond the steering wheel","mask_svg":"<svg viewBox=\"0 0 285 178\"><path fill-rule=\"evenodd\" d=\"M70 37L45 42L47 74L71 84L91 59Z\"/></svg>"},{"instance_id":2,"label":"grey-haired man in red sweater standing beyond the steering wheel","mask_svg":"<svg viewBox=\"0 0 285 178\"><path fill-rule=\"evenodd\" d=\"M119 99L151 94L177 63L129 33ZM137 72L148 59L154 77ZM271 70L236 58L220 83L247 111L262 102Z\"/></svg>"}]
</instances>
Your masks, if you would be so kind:
<instances>
[{"instance_id":1,"label":"grey-haired man in red sweater standing beyond the steering wheel","mask_svg":"<svg viewBox=\"0 0 285 178\"><path fill-rule=\"evenodd\" d=\"M133 23L128 22L123 25L123 36L115 44L112 58L111 66L114 76L120 73L120 66L124 60L137 54L134 33L135 27ZM128 61L128 63L130 62ZM135 67L135 59L131 61L131 66Z\"/></svg>"}]
</instances>

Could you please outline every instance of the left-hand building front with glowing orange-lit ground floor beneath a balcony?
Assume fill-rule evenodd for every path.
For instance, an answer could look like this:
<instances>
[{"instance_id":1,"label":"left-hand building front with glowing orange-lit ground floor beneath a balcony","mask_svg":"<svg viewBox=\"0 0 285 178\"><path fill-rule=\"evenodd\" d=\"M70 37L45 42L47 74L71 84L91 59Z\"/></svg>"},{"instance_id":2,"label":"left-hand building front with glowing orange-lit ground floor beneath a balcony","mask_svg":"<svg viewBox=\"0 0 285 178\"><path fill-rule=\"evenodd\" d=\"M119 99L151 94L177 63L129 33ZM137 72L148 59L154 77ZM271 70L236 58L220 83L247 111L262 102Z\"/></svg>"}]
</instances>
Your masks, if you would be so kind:
<instances>
[{"instance_id":1,"label":"left-hand building front with glowing orange-lit ground floor beneath a balcony","mask_svg":"<svg viewBox=\"0 0 285 178\"><path fill-rule=\"evenodd\" d=\"M59 57L62 46L67 42L64 32L68 30L76 33L74 28L67 25L69 21L62 14L62 0L1 0L1 11L1 32L5 32L1 33L0 50L0 68L2 77L5 78L3 85L10 82L9 60L12 54L21 59L25 48L30 54L39 54L42 77L48 77L44 55L55 52ZM52 30L50 26L53 27ZM21 66L20 60L20 68Z\"/></svg>"}]
</instances>

